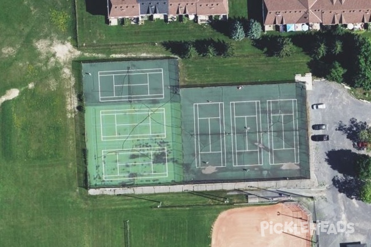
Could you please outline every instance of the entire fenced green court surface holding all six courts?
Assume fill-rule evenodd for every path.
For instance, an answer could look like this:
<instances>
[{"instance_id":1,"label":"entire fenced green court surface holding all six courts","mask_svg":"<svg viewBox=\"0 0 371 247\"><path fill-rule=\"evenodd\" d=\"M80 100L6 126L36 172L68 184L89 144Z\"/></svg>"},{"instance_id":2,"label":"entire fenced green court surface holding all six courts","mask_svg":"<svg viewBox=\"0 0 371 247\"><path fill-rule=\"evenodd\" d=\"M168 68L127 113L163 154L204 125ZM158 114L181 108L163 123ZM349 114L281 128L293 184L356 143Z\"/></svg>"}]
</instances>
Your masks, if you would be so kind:
<instances>
[{"instance_id":1,"label":"entire fenced green court surface holding all six courts","mask_svg":"<svg viewBox=\"0 0 371 247\"><path fill-rule=\"evenodd\" d=\"M179 89L176 60L82 74L90 187L309 178L302 83Z\"/></svg>"}]
</instances>

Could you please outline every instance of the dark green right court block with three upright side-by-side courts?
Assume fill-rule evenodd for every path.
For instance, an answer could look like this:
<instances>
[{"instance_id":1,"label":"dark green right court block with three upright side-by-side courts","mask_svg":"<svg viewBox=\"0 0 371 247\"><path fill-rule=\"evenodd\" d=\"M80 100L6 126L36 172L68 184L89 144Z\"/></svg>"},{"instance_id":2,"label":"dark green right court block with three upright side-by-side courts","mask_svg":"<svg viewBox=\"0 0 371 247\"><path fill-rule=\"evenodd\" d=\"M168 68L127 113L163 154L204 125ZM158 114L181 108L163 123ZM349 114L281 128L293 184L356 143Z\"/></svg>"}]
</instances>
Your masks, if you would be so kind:
<instances>
[{"instance_id":1,"label":"dark green right court block with three upright side-by-side courts","mask_svg":"<svg viewBox=\"0 0 371 247\"><path fill-rule=\"evenodd\" d=\"M181 89L185 180L309 177L300 83Z\"/></svg>"}]
</instances>

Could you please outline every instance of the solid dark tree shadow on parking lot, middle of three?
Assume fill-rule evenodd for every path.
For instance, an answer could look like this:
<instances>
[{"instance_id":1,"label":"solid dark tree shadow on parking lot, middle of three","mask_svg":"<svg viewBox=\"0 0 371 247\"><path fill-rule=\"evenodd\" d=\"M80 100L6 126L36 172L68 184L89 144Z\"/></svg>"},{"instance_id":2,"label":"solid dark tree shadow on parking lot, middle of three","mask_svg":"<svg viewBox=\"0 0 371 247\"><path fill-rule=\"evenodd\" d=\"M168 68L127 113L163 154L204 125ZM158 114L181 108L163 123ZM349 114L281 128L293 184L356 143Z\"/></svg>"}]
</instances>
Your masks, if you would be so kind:
<instances>
[{"instance_id":1,"label":"solid dark tree shadow on parking lot, middle of three","mask_svg":"<svg viewBox=\"0 0 371 247\"><path fill-rule=\"evenodd\" d=\"M325 161L333 170L344 176L356 176L358 155L349 149L330 150L326 153Z\"/></svg>"}]
</instances>

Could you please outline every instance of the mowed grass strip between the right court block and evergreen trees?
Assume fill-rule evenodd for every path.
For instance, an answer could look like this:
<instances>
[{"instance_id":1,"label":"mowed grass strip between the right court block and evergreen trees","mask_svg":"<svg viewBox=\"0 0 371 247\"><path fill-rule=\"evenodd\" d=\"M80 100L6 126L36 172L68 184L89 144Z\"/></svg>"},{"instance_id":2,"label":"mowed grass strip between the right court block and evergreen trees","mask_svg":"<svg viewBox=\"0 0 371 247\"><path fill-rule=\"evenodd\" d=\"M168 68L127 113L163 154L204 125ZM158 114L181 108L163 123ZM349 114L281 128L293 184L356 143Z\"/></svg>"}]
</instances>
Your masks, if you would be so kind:
<instances>
[{"instance_id":1,"label":"mowed grass strip between the right court block and evergreen trees","mask_svg":"<svg viewBox=\"0 0 371 247\"><path fill-rule=\"evenodd\" d=\"M303 53L294 53L291 57L282 60L264 54L184 59L181 82L183 85L196 86L214 83L293 81L295 74L309 72L306 65L309 60L310 57Z\"/></svg>"}]
</instances>

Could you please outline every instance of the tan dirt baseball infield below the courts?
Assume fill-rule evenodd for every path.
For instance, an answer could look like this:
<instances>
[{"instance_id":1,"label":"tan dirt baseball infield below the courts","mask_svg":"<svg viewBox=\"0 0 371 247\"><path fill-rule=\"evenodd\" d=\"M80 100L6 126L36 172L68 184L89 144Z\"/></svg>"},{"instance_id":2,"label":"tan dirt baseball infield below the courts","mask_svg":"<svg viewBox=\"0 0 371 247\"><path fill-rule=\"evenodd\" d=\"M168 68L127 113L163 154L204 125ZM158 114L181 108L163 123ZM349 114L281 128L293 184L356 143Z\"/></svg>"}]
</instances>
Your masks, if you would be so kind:
<instances>
[{"instance_id":1,"label":"tan dirt baseball infield below the courts","mask_svg":"<svg viewBox=\"0 0 371 247\"><path fill-rule=\"evenodd\" d=\"M285 229L285 223L290 225L291 221L292 232ZM297 204L233 208L221 213L215 221L211 247L310 247L313 231L307 222L307 213ZM275 224L276 231L283 232L276 233L273 230Z\"/></svg>"}]
</instances>

